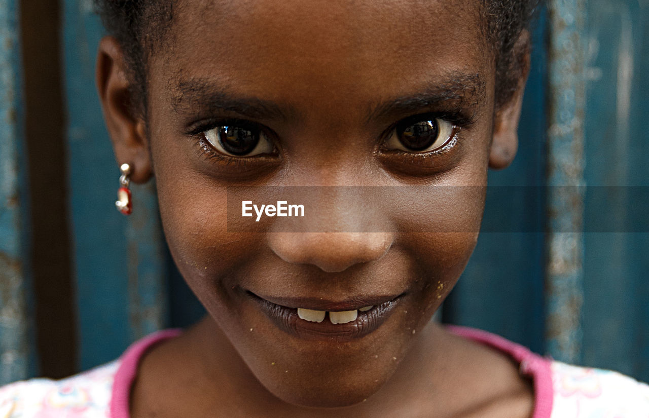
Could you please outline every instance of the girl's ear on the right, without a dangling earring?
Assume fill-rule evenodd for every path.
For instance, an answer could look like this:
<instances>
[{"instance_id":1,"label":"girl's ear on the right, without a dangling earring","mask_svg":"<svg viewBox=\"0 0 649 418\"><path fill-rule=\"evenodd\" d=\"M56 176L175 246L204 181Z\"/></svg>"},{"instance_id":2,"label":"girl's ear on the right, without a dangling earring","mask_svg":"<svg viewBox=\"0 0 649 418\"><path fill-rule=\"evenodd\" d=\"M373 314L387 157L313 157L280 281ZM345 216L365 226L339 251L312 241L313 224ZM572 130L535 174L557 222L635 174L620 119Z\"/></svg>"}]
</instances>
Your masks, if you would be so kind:
<instances>
[{"instance_id":1,"label":"girl's ear on the right, without a dangling earring","mask_svg":"<svg viewBox=\"0 0 649 418\"><path fill-rule=\"evenodd\" d=\"M489 152L489 167L499 170L513 161L519 145L519 119L525 83L530 73L530 32L524 30L514 46L518 82L508 102L496 110L493 140Z\"/></svg>"}]
</instances>

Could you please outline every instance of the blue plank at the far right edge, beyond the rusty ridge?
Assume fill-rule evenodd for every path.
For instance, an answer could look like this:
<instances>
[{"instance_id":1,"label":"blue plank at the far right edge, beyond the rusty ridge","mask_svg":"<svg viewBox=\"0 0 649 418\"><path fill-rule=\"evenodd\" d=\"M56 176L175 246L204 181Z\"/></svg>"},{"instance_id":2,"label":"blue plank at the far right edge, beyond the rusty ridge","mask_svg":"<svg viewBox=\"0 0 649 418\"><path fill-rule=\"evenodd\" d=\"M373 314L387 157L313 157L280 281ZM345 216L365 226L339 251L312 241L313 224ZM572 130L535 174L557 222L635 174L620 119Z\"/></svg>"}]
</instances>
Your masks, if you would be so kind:
<instances>
[{"instance_id":1,"label":"blue plank at the far right edge, beyond the rusty ridge","mask_svg":"<svg viewBox=\"0 0 649 418\"><path fill-rule=\"evenodd\" d=\"M606 211L633 226L631 186L649 186L649 3L587 3L589 71L585 176L604 186ZM615 199L613 199L615 191ZM645 202L646 203L646 202ZM637 216L637 215L636 215ZM646 214L643 214L646 220ZM583 360L649 381L649 234L585 236Z\"/></svg>"}]
</instances>

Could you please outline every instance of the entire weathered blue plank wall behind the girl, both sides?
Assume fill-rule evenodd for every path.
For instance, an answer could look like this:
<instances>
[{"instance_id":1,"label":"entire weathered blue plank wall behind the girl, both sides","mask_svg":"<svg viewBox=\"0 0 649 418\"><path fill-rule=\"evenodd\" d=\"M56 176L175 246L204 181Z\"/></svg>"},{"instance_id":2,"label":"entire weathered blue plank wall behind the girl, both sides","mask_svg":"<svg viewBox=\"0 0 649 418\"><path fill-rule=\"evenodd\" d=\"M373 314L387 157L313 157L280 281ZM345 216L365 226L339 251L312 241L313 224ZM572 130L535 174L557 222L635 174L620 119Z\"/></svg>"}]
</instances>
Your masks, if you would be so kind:
<instances>
[{"instance_id":1,"label":"entire weathered blue plank wall behind the girl, both sides","mask_svg":"<svg viewBox=\"0 0 649 418\"><path fill-rule=\"evenodd\" d=\"M25 198L19 3L0 0L0 384L40 374L30 240L51 239L31 236ZM130 218L114 209L119 172L93 83L103 30L92 1L61 7L72 354L82 370L203 310L170 261L153 185L134 186ZM588 227L597 211L646 226L648 212L634 205L646 209L647 194L589 206L583 187L618 186L623 195L649 187L648 114L649 2L548 1L533 31L519 154L490 174L491 184L526 192L487 199L491 228L445 302L444 321L649 380L649 231Z\"/></svg>"}]
</instances>

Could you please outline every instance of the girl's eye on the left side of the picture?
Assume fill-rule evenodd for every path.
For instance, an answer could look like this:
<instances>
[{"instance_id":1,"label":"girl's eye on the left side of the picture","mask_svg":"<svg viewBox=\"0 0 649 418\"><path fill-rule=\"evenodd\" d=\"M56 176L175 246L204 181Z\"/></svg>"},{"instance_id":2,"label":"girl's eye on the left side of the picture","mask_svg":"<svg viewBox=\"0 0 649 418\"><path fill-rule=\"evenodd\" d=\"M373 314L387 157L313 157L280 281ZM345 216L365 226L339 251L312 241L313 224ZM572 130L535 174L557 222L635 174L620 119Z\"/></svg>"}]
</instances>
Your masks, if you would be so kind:
<instances>
[{"instance_id":1,"label":"girl's eye on the left side of the picture","mask_svg":"<svg viewBox=\"0 0 649 418\"><path fill-rule=\"evenodd\" d=\"M215 126L204 131L203 135L215 150L226 156L271 154L275 148L261 127L251 123L238 122Z\"/></svg>"}]
</instances>

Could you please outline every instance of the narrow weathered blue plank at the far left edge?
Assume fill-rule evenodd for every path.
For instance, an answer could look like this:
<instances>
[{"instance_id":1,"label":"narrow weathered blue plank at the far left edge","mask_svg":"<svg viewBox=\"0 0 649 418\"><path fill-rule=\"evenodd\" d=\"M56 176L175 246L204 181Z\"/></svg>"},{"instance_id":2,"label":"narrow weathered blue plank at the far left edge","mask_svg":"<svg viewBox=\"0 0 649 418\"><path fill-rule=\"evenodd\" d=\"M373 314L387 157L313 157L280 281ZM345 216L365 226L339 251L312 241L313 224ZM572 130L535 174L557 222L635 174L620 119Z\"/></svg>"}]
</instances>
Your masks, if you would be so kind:
<instances>
[{"instance_id":1,"label":"narrow weathered blue plank at the far left edge","mask_svg":"<svg viewBox=\"0 0 649 418\"><path fill-rule=\"evenodd\" d=\"M28 310L18 2L0 0L0 385L36 370Z\"/></svg>"}]
</instances>

